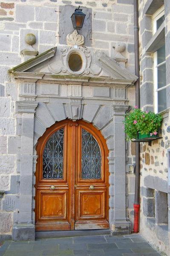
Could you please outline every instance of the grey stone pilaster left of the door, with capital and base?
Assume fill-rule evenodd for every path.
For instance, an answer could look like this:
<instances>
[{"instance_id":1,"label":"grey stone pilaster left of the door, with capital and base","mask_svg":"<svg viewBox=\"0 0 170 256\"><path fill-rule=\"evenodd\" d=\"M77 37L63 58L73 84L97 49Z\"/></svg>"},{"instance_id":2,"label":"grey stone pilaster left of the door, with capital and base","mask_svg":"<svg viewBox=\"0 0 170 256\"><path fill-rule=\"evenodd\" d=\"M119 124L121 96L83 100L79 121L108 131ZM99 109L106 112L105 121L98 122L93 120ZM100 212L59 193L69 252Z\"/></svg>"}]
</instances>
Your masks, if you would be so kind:
<instances>
[{"instance_id":1,"label":"grey stone pilaster left of the door, with capital and base","mask_svg":"<svg viewBox=\"0 0 170 256\"><path fill-rule=\"evenodd\" d=\"M38 102L35 101L20 101L16 103L17 112L22 114L22 128L20 193L17 223L13 227L14 241L35 239L35 226L32 224L32 180L34 113L37 105Z\"/></svg>"}]
</instances>

